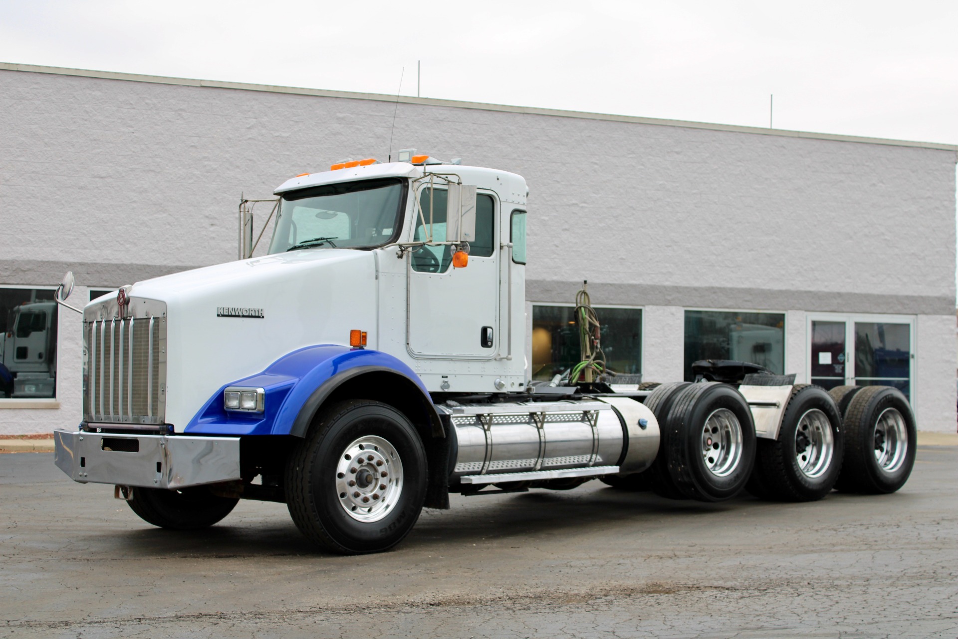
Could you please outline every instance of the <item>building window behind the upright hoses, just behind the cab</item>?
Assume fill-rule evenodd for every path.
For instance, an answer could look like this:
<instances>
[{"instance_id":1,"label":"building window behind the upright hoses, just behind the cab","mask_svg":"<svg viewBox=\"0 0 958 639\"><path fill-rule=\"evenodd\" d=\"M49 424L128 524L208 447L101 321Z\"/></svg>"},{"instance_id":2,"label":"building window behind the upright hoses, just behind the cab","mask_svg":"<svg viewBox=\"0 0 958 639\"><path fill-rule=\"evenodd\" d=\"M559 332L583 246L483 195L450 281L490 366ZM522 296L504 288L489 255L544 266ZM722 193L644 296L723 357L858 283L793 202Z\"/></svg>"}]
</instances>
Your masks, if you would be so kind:
<instances>
[{"instance_id":1,"label":"building window behind the upright hoses, just behind the cab","mask_svg":"<svg viewBox=\"0 0 958 639\"><path fill-rule=\"evenodd\" d=\"M641 374L642 309L595 309L602 325L601 343L606 368L622 375ZM564 375L579 363L579 333L574 310L573 307L533 307L533 379Z\"/></svg>"}]
</instances>

